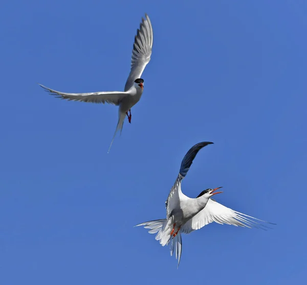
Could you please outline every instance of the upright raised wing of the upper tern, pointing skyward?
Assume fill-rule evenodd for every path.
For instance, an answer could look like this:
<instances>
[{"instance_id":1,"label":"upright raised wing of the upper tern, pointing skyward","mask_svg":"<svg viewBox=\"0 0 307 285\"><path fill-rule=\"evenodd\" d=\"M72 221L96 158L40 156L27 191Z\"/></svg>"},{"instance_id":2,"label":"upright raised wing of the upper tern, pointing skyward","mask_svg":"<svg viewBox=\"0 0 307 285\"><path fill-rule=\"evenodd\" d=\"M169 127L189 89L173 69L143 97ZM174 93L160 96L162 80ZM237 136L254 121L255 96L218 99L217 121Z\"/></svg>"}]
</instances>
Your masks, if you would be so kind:
<instances>
[{"instance_id":1,"label":"upright raised wing of the upper tern, pointing skyward","mask_svg":"<svg viewBox=\"0 0 307 285\"><path fill-rule=\"evenodd\" d=\"M125 91L133 86L134 81L140 78L145 66L150 60L151 49L152 49L152 27L151 22L147 14L145 19L142 18L140 29L138 29L135 41L133 44L132 56L131 56L131 69L128 79L125 85Z\"/></svg>"}]
</instances>

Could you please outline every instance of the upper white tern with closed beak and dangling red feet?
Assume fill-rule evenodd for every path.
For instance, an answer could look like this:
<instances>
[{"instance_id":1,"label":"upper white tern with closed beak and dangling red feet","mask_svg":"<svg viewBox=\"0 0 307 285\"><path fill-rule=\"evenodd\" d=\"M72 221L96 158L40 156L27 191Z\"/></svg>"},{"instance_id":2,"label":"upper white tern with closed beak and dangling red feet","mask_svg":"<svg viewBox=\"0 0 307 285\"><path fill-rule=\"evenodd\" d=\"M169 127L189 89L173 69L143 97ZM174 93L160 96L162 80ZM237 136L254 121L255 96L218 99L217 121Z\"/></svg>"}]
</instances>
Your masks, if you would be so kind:
<instances>
[{"instance_id":1,"label":"upper white tern with closed beak and dangling red feet","mask_svg":"<svg viewBox=\"0 0 307 285\"><path fill-rule=\"evenodd\" d=\"M125 116L128 116L128 121L131 123L131 107L139 102L143 93L144 80L141 79L141 75L145 69L145 66L150 60L151 49L153 42L153 33L151 22L147 14L145 19L142 18L140 29L137 31L131 56L131 69L128 79L125 84L124 91L101 91L91 93L64 93L46 86L39 84L46 91L55 95L58 98L83 101L90 103L109 103L119 106L118 123L117 127L109 147L113 144L113 140L117 131L122 131ZM129 111L129 114L128 114ZM108 152L109 152L108 150Z\"/></svg>"}]
</instances>

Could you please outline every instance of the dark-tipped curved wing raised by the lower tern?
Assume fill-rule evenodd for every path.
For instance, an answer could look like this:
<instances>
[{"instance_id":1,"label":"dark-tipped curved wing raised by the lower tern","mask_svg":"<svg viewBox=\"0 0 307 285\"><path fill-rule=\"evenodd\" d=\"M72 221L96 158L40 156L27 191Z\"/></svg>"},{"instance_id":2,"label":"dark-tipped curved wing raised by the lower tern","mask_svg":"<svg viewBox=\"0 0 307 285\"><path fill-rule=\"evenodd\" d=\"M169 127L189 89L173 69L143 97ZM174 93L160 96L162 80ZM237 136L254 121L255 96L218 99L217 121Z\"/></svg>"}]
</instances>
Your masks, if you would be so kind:
<instances>
[{"instance_id":1,"label":"dark-tipped curved wing raised by the lower tern","mask_svg":"<svg viewBox=\"0 0 307 285\"><path fill-rule=\"evenodd\" d=\"M170 217L170 214L174 208L180 203L179 193L181 193L181 181L187 175L191 164L196 156L196 154L205 146L213 144L210 141L203 141L202 143L196 144L195 146L191 147L189 151L184 156L180 171L177 176L177 179L174 185L171 187L167 200L165 202L166 205L166 217L167 219Z\"/></svg>"}]
</instances>

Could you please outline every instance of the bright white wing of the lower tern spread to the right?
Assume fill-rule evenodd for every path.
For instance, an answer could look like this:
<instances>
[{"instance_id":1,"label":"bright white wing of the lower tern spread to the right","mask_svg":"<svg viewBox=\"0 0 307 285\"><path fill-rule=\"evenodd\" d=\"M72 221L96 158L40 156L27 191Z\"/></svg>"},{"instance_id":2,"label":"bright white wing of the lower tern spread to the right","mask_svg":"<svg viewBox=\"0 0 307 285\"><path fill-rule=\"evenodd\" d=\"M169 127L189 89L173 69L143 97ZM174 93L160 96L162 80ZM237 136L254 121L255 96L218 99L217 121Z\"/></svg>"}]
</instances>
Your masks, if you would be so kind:
<instances>
[{"instance_id":1,"label":"bright white wing of the lower tern spread to the right","mask_svg":"<svg viewBox=\"0 0 307 285\"><path fill-rule=\"evenodd\" d=\"M244 213L237 212L233 209L227 208L224 205L213 201L212 199L208 200L208 203L204 209L202 209L198 214L193 218L187 221L182 227L181 231L184 233L190 233L193 230L198 230L205 225L208 225L212 222L218 224L228 224L233 226L241 226L248 228L268 228L261 223L269 223L256 219L254 217L245 215ZM272 224L272 223L269 223Z\"/></svg>"}]
</instances>

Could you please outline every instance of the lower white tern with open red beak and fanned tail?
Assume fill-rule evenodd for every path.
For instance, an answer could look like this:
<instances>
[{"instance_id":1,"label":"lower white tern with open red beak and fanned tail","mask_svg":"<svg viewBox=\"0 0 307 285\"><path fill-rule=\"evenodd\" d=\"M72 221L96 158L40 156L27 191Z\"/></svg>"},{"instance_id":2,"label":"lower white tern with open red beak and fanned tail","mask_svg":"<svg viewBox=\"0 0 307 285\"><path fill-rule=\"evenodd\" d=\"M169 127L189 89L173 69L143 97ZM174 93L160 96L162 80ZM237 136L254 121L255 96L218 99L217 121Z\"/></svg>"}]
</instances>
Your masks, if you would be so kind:
<instances>
[{"instance_id":1,"label":"lower white tern with open red beak and fanned tail","mask_svg":"<svg viewBox=\"0 0 307 285\"><path fill-rule=\"evenodd\" d=\"M183 158L178 177L170 189L170 193L165 202L166 219L149 221L137 225L150 229L149 233L157 233L156 240L160 241L162 246L170 243L170 255L176 249L176 258L178 258L177 268L179 267L182 251L181 233L190 233L212 222L248 228L268 228L256 221L268 222L227 208L211 199L213 195L222 193L215 192L222 187L206 189L196 198L189 198L182 193L181 181L189 171L193 159L200 149L210 144L213 143L204 141L203 143L196 144Z\"/></svg>"}]
</instances>

